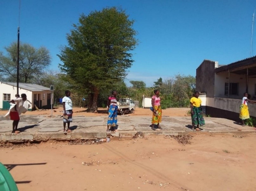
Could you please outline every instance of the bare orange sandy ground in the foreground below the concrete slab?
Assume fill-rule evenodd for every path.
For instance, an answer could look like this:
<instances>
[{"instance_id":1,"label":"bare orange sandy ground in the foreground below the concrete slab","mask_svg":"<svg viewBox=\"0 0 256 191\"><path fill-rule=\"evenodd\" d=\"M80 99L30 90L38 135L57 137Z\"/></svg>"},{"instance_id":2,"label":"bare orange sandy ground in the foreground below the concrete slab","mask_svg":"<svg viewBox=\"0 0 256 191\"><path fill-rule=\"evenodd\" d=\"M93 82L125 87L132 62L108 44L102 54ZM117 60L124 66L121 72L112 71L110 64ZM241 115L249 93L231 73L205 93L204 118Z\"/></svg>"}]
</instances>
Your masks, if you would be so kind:
<instances>
[{"instance_id":1,"label":"bare orange sandy ground in the foreground below the concrete slab","mask_svg":"<svg viewBox=\"0 0 256 191\"><path fill-rule=\"evenodd\" d=\"M197 135L187 145L162 136L92 145L40 143L2 147L0 161L20 191L252 191L255 138Z\"/></svg>"}]
</instances>

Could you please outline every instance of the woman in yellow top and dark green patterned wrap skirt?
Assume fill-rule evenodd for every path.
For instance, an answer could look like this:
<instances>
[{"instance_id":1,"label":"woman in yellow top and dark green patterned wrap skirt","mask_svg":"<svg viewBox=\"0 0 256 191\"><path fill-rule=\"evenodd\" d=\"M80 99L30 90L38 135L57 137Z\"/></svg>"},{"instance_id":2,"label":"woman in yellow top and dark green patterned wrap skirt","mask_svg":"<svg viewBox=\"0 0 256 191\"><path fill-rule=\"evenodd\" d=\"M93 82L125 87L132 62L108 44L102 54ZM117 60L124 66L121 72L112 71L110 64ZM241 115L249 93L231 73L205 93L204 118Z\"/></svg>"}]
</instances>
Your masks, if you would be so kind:
<instances>
[{"instance_id":1,"label":"woman in yellow top and dark green patterned wrap skirt","mask_svg":"<svg viewBox=\"0 0 256 191\"><path fill-rule=\"evenodd\" d=\"M205 124L201 106L202 100L198 96L199 92L195 92L194 97L190 99L192 130L195 129L195 125L198 128L199 125Z\"/></svg>"}]
</instances>

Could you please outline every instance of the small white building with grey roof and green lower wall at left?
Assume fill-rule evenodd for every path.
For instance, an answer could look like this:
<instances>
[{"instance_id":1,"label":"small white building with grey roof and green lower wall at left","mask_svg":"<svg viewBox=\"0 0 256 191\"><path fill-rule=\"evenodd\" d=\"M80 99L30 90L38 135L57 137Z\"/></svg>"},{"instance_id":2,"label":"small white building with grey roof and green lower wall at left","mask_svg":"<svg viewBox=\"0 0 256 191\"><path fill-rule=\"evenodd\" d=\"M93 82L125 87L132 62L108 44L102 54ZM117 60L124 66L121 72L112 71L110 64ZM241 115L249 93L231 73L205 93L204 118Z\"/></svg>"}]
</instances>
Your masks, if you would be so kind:
<instances>
[{"instance_id":1,"label":"small white building with grey roof and green lower wall at left","mask_svg":"<svg viewBox=\"0 0 256 191\"><path fill-rule=\"evenodd\" d=\"M17 83L16 82L0 82L0 90L3 96L0 96L0 109L8 110L10 108L10 100L15 98L17 93ZM36 84L29 83L19 83L19 94L25 93L27 99L32 103L32 110L34 105L39 109L51 108L50 101L50 88L39 86ZM31 111L31 108L29 109Z\"/></svg>"}]
</instances>

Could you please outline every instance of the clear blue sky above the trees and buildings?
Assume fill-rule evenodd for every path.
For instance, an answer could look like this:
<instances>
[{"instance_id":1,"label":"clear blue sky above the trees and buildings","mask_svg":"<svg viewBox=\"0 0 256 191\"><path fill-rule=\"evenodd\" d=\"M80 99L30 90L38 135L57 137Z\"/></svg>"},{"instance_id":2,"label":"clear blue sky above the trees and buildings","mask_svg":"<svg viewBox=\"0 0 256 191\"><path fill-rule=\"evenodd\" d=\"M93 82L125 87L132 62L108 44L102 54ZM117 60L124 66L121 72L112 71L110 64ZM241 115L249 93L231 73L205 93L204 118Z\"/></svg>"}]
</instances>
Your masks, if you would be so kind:
<instances>
[{"instance_id":1,"label":"clear blue sky above the trees and buildings","mask_svg":"<svg viewBox=\"0 0 256 191\"><path fill-rule=\"evenodd\" d=\"M204 59L229 64L256 53L254 19L250 54L255 0L21 0L20 41L48 48L49 69L59 70L56 54L67 45L72 24L107 6L126 10L139 33L127 82L152 86L159 77L195 76ZM18 16L19 0L0 1L0 51L17 41Z\"/></svg>"}]
</instances>

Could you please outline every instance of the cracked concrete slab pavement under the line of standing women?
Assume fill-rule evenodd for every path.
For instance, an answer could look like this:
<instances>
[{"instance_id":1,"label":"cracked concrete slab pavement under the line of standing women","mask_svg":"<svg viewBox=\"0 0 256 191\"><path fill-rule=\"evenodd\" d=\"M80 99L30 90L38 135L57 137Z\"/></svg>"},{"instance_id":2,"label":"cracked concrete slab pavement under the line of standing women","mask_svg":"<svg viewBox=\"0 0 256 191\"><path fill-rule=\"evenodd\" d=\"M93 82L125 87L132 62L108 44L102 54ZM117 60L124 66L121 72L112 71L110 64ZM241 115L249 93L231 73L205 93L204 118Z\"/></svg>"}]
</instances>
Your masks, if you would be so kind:
<instances>
[{"instance_id":1,"label":"cracked concrete slab pavement under the line of standing women","mask_svg":"<svg viewBox=\"0 0 256 191\"><path fill-rule=\"evenodd\" d=\"M38 140L38 139L89 139L104 138L107 136L106 124L107 116L85 117L75 116L70 123L72 133L64 135L63 118L56 116L49 118L42 115L22 115L18 128L21 133L12 134L12 121L0 116L0 141L7 140ZM161 131L153 131L151 116L118 116L118 133L112 134L113 137L132 137L138 131L144 135L172 135L172 134L193 134L193 133L233 133L248 134L256 133L255 128L242 127L237 122L224 118L205 118L206 125L201 127L202 131L191 130L190 117L171 117L163 116ZM241 131L240 131L241 130Z\"/></svg>"}]
</instances>

